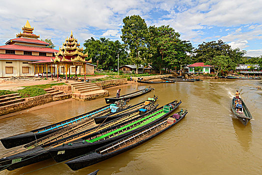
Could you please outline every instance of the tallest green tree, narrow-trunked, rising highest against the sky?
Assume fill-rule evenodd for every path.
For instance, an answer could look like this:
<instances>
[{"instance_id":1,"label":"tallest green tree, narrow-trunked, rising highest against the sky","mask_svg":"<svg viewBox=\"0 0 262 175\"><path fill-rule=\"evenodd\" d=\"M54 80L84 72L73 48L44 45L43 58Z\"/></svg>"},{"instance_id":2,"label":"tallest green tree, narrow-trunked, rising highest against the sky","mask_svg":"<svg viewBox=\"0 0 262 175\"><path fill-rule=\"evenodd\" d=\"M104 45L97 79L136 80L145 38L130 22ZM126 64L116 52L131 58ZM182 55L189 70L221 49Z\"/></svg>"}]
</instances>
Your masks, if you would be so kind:
<instances>
[{"instance_id":1,"label":"tallest green tree, narrow-trunked, rising highest against the sky","mask_svg":"<svg viewBox=\"0 0 262 175\"><path fill-rule=\"evenodd\" d=\"M139 15L126 16L123 18L122 41L130 50L129 56L136 65L136 73L142 59L147 56L148 29L147 25Z\"/></svg>"}]
</instances>

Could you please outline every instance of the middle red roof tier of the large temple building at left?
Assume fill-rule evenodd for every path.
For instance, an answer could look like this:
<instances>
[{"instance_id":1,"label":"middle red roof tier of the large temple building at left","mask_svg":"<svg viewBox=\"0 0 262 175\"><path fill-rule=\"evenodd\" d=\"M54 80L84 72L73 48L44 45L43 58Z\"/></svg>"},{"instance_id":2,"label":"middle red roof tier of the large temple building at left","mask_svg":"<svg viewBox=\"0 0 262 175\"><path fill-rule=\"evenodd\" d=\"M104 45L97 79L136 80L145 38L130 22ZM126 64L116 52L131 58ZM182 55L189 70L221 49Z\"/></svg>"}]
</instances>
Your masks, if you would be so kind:
<instances>
[{"instance_id":1,"label":"middle red roof tier of the large temple building at left","mask_svg":"<svg viewBox=\"0 0 262 175\"><path fill-rule=\"evenodd\" d=\"M36 47L36 46L27 46L27 45L1 45L0 49L10 49L10 50L25 50L25 51L40 51L40 52L57 52L58 50L48 47Z\"/></svg>"}]
</instances>

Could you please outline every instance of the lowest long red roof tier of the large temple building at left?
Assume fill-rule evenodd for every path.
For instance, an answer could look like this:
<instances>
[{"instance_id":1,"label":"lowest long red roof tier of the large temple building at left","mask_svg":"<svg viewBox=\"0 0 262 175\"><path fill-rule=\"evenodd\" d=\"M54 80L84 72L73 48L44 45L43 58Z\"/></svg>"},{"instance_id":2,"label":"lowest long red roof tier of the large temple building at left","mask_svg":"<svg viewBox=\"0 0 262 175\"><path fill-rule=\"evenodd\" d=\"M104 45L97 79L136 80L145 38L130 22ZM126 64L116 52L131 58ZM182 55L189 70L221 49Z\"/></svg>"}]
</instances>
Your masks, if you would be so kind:
<instances>
[{"instance_id":1,"label":"lowest long red roof tier of the large temple building at left","mask_svg":"<svg viewBox=\"0 0 262 175\"><path fill-rule=\"evenodd\" d=\"M0 54L0 59L8 59L8 60L50 60L51 56L34 56L34 55L23 55L23 54Z\"/></svg>"}]
</instances>

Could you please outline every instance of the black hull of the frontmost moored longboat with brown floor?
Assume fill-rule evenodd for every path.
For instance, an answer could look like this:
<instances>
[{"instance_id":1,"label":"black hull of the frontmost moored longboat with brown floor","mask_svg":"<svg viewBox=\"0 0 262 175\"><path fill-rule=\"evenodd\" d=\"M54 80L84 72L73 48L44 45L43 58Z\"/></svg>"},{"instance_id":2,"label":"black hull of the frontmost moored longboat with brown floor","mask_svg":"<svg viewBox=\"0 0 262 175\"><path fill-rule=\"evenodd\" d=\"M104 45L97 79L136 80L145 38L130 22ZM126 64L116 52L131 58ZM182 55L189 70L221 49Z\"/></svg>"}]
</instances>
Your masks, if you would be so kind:
<instances>
[{"instance_id":1,"label":"black hull of the frontmost moored longboat with brown floor","mask_svg":"<svg viewBox=\"0 0 262 175\"><path fill-rule=\"evenodd\" d=\"M186 112L186 113L187 113L187 112ZM134 148L134 147L136 147L136 146L138 146L138 145L140 145L140 144L142 144L142 143L150 140L151 138L155 137L156 135L164 132L165 130L167 130L168 128L172 127L172 126L175 125L177 122L179 122L182 118L184 118L184 116L186 115L186 113L184 113L184 114L183 114L176 122L174 122L173 124L169 125L168 127L164 128L163 130L160 130L159 132L156 132L155 134L147 137L146 139L143 139L143 140L141 140L141 141L138 141L138 142L136 142L136 143L134 143L134 144L131 144L131 145L129 145L129 146L127 146L127 147L124 147L124 148L122 148L122 149L119 149L119 150L117 150L117 151L113 151L113 152L106 153L106 154L103 154L103 155L102 155L102 154L99 154L99 153L96 153L96 152L93 152L93 153L84 155L84 156L82 156L82 157L75 158L75 159L73 159L73 160L70 160L70 161L68 161L68 162L65 162L65 164L67 164L72 170L77 170L77 169L81 169L81 168L90 166L90 165L92 165L92 164L98 163L98 162L100 162L100 161L103 161L103 160L108 159L108 158L110 158L110 157L113 157L113 156L115 156L115 155L118 155L118 154L120 154L120 153L122 153L122 152L125 152L126 150L129 150L129 149L131 149L131 148ZM163 120L164 120L164 119L163 119ZM160 120L160 121L158 121L158 122L156 122L156 123L159 123L159 122L161 122L161 121L163 121L163 120ZM148 125L147 127L145 127L144 129L149 128L150 126L152 126L152 125L154 125L154 124L155 124L155 123L150 124L150 125ZM139 132L139 131L137 131L137 132ZM136 133L137 133L137 132L136 132ZM133 134L135 134L135 133L133 133ZM129 137L129 136L131 136L131 135L132 135L132 134L129 134L129 135L127 135L125 138L127 138L127 137ZM123 138L122 138L122 139L123 139ZM120 141L120 139L119 139L119 140L116 140L115 142L119 142L119 141Z\"/></svg>"}]
</instances>

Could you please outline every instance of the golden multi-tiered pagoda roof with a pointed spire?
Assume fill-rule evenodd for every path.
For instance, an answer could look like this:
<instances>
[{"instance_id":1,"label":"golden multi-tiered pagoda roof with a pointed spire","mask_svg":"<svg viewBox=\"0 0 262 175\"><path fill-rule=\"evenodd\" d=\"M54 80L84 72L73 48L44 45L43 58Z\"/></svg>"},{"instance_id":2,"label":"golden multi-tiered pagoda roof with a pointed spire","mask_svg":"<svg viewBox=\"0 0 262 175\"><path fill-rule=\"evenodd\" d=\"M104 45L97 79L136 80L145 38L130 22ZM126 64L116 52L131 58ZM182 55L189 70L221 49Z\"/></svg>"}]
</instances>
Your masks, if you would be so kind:
<instances>
[{"instance_id":1,"label":"golden multi-tiered pagoda roof with a pointed spire","mask_svg":"<svg viewBox=\"0 0 262 175\"><path fill-rule=\"evenodd\" d=\"M59 51L55 53L54 62L86 62L85 57L88 57L87 53L83 54L83 47L79 48L77 39L73 37L72 31L70 37L66 37L65 42L62 43L62 47L59 47ZM91 61L91 60L90 60ZM87 62L90 62L87 61Z\"/></svg>"}]
</instances>

